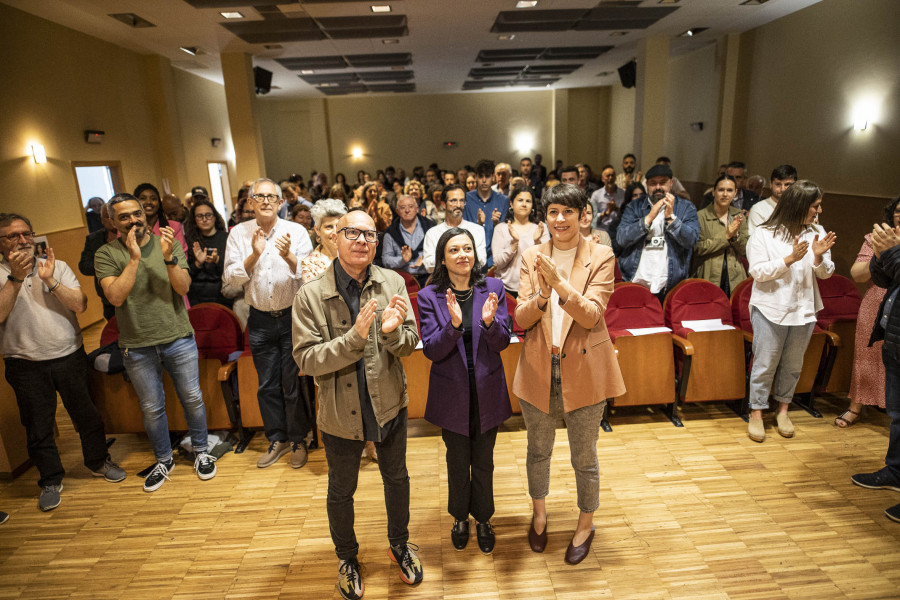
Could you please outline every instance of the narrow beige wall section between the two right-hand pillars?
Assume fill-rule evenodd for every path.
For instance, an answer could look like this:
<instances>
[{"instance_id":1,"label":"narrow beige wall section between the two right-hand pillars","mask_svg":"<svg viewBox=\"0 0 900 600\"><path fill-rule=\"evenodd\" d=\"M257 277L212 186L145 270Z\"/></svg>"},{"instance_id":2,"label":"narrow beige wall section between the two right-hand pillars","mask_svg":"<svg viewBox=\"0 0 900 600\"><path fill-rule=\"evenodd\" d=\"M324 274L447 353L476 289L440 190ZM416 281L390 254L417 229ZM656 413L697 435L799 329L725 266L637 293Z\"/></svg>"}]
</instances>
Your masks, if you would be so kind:
<instances>
[{"instance_id":1,"label":"narrow beige wall section between the two right-hand pillars","mask_svg":"<svg viewBox=\"0 0 900 600\"><path fill-rule=\"evenodd\" d=\"M706 181L716 167L719 82L715 44L669 61L667 96L663 152L672 159L679 179ZM696 122L703 123L702 131L691 129L690 124Z\"/></svg>"}]
</instances>

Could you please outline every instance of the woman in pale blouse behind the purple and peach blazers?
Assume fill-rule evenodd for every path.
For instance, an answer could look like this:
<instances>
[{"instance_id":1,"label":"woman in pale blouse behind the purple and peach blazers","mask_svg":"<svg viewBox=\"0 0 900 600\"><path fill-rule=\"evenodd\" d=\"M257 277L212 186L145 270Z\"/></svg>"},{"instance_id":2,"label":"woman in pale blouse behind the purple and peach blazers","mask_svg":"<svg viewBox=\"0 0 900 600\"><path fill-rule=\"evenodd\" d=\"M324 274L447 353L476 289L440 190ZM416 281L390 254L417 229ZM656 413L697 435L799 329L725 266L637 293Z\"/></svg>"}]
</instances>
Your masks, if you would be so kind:
<instances>
[{"instance_id":1,"label":"woman in pale blouse behind the purple and peach blazers","mask_svg":"<svg viewBox=\"0 0 900 600\"><path fill-rule=\"evenodd\" d=\"M531 188L513 188L509 195L510 209L506 222L494 228L491 253L494 255L494 277L503 281L503 287L513 298L519 295L519 271L522 253L528 248L546 242L550 233L543 223L538 223Z\"/></svg>"}]
</instances>

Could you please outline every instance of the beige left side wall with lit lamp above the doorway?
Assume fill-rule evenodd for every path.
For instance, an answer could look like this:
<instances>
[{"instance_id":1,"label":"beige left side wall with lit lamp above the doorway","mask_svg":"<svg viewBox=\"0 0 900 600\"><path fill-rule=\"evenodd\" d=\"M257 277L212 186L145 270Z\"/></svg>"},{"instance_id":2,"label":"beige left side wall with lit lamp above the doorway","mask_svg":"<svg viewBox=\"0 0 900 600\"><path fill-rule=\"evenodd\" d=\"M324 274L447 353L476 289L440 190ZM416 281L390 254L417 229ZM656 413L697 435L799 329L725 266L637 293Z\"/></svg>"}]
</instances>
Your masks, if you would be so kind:
<instances>
[{"instance_id":1,"label":"beige left side wall with lit lamp above the doorway","mask_svg":"<svg viewBox=\"0 0 900 600\"><path fill-rule=\"evenodd\" d=\"M83 226L73 160L121 161L126 187L156 181L140 56L4 5L0 23L3 208L28 215L40 233ZM106 139L88 144L85 129ZM32 143L44 145L46 164L34 164Z\"/></svg>"}]
</instances>

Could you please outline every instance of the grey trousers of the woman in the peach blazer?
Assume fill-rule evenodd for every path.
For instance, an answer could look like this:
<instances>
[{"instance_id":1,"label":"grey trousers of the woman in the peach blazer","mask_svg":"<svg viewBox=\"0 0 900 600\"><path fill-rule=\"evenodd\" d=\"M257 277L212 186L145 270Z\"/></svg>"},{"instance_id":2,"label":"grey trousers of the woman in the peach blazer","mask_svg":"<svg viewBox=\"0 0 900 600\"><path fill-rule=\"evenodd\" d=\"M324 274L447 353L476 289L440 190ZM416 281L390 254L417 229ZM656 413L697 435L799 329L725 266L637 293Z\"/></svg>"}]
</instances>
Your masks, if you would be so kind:
<instances>
[{"instance_id":1,"label":"grey trousers of the woman in the peach blazer","mask_svg":"<svg viewBox=\"0 0 900 600\"><path fill-rule=\"evenodd\" d=\"M569 434L569 452L575 469L575 487L578 492L578 508L592 513L600 506L600 465L597 462L597 436L606 401L565 412L562 404L559 357L554 356L550 366L550 414L546 414L520 400L522 416L528 430L528 455L525 460L528 473L528 493L539 500L550 493L550 458L556 440L556 426L560 419L566 423Z\"/></svg>"}]
</instances>

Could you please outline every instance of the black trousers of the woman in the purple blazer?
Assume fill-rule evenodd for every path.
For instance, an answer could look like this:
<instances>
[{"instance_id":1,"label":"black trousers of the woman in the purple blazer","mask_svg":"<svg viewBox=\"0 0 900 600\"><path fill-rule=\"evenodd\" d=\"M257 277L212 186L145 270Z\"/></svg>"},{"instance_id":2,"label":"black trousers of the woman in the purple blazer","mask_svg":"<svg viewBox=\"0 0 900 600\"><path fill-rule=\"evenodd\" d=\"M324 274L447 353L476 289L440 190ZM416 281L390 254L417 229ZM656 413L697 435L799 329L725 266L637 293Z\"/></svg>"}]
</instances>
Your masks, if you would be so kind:
<instances>
[{"instance_id":1,"label":"black trousers of the woman in the purple blazer","mask_svg":"<svg viewBox=\"0 0 900 600\"><path fill-rule=\"evenodd\" d=\"M469 435L441 431L447 446L447 512L464 521L471 514L479 523L494 515L494 444L497 427L481 432L475 381L469 378Z\"/></svg>"}]
</instances>

